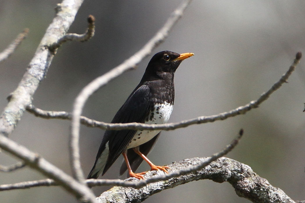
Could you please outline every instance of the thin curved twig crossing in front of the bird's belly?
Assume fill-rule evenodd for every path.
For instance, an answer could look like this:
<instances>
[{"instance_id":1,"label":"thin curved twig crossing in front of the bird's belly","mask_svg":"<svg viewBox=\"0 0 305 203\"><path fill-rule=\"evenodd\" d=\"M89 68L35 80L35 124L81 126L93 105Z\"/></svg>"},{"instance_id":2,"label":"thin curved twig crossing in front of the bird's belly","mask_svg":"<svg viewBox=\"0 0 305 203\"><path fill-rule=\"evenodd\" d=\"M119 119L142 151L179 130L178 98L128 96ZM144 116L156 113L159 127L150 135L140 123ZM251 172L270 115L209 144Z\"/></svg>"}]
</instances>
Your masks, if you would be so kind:
<instances>
[{"instance_id":1,"label":"thin curved twig crossing in front of the bird's belly","mask_svg":"<svg viewBox=\"0 0 305 203\"><path fill-rule=\"evenodd\" d=\"M131 130L174 130L177 128L185 128L189 125L193 124L202 124L207 122L219 121L224 120L229 117L234 117L239 114L245 114L247 111L257 108L262 102L268 99L268 97L277 89L279 89L283 83L285 83L288 77L291 75L292 71L295 69L296 65L299 63L301 59L301 52L296 54L296 59L290 66L289 70L279 79L278 82L274 83L274 85L265 93L263 93L257 100L251 101L250 103L246 104L245 106L238 107L233 109L229 112L223 112L217 115L211 116L200 116L196 118L192 118L185 121L180 121L176 123L166 123L166 124L143 124L143 123L123 123L123 124L113 124L113 123L106 123L101 121L96 121L84 116L81 116L81 124L84 124L88 127L98 127L101 129L106 130L122 130L122 129L131 129ZM34 114L35 116L42 117L42 118L59 118L59 119L68 119L71 120L72 115L69 112L65 111L45 111L39 108L36 108L32 105L27 107L27 110Z\"/></svg>"}]
</instances>

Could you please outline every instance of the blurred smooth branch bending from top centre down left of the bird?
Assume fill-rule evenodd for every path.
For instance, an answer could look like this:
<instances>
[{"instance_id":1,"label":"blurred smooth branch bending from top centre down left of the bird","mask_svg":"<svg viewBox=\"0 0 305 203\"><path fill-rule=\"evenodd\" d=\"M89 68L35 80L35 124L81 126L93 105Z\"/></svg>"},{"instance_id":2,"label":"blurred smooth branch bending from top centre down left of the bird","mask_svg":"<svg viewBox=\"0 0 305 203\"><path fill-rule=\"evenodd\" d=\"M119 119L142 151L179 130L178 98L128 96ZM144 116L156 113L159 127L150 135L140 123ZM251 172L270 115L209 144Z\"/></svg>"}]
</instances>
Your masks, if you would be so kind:
<instances>
[{"instance_id":1,"label":"blurred smooth branch bending from top centre down left of the bird","mask_svg":"<svg viewBox=\"0 0 305 203\"><path fill-rule=\"evenodd\" d=\"M127 70L131 70L134 68L144 57L149 55L158 44L160 44L165 37L167 37L169 30L174 26L174 24L180 19L182 13L188 6L191 0L186 0L182 3L181 6L176 9L165 25L155 34L152 39L150 39L145 46L131 56L129 59L124 61L124 63L120 64L116 68L113 68L111 71L106 74L96 78L92 82L90 82L87 86L85 86L81 93L77 96L73 106L73 117L71 122L71 133L70 133L70 162L72 166L73 176L77 180L84 181L84 175L81 170L80 163L80 155L79 155L79 127L80 127L80 117L81 112L84 107L85 102L88 100L89 96L94 93L100 87L106 85L110 80L116 78L121 75L123 72Z\"/></svg>"}]
</instances>

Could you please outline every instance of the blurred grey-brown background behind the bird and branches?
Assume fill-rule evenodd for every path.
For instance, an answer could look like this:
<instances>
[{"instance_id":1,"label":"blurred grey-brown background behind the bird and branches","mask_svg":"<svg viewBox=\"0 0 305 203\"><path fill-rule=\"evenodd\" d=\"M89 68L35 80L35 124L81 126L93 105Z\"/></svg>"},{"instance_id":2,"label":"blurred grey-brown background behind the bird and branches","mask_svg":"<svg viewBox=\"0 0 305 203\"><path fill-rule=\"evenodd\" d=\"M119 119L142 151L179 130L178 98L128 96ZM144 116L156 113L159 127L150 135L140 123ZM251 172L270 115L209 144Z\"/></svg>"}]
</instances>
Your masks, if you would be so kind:
<instances>
[{"instance_id":1,"label":"blurred grey-brown background behind the bird and branches","mask_svg":"<svg viewBox=\"0 0 305 203\"><path fill-rule=\"evenodd\" d=\"M59 1L0 2L0 50L29 28L15 53L0 63L0 109L18 85L55 15ZM166 22L181 0L85 1L69 32L83 33L87 16L96 18L95 36L85 43L59 48L33 104L44 110L71 111L74 98L91 80L138 51ZM284 74L297 51L305 54L304 1L193 1L169 37L153 53L193 52L175 74L175 107L170 122L219 114L256 100ZM111 81L90 97L83 115L111 121L140 81L151 56L136 70ZM238 134L240 144L227 157L248 164L293 200L304 200L305 70L302 59L289 83L259 108L224 121L163 131L149 159L170 164L220 151ZM1 110L2 111L2 110ZM71 174L68 155L69 121L45 120L24 113L10 138L39 153ZM81 127L81 164L85 175L93 166L104 131ZM102 178L117 178L120 157ZM0 163L17 159L0 154ZM148 170L145 163L138 171ZM125 177L125 175L124 175ZM0 184L45 178L26 167L0 173ZM123 178L123 177L121 177ZM109 187L94 187L96 195ZM60 187L0 192L6 202L77 202ZM200 180L155 194L145 202L250 202L239 198L228 183Z\"/></svg>"}]
</instances>

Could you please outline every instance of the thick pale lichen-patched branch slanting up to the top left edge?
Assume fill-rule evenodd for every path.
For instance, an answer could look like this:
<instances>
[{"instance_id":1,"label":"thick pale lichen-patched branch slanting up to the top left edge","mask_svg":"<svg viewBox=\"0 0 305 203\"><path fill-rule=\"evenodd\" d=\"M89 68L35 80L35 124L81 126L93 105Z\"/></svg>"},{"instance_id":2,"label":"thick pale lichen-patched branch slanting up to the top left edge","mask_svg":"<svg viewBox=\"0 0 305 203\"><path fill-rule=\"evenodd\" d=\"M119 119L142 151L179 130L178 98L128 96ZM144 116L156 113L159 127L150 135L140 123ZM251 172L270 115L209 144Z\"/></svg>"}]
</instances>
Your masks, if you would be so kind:
<instances>
[{"instance_id":1,"label":"thick pale lichen-patched branch slanting up to the top left edge","mask_svg":"<svg viewBox=\"0 0 305 203\"><path fill-rule=\"evenodd\" d=\"M9 103L0 115L0 133L13 132L25 108L31 103L39 83L45 77L56 49L49 49L66 35L83 0L63 0L57 5L57 13L30 61L18 87L8 97Z\"/></svg>"}]
</instances>

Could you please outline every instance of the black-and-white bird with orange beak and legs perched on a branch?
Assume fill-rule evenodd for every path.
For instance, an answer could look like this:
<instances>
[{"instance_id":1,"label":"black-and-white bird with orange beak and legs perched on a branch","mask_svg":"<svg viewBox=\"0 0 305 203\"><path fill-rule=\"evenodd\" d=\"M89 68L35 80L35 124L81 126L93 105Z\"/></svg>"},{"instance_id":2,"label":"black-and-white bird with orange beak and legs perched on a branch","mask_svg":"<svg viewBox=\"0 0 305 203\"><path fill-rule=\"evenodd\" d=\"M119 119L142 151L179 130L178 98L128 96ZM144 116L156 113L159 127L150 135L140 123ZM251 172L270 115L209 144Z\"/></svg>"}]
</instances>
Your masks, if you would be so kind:
<instances>
[{"instance_id":1,"label":"black-and-white bird with orange beak and legs perched on a branch","mask_svg":"<svg viewBox=\"0 0 305 203\"><path fill-rule=\"evenodd\" d=\"M149 61L138 86L117 111L111 123L166 123L174 105L174 73L181 61L193 53L178 54L173 51L156 53ZM155 145L161 130L106 130L97 153L94 166L87 179L97 179L117 160L124 161L120 175L127 169L129 177L144 179L147 172L134 173L143 160L151 170L167 172L168 166L156 166L146 156Z\"/></svg>"}]
</instances>

